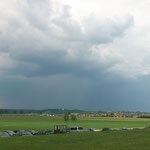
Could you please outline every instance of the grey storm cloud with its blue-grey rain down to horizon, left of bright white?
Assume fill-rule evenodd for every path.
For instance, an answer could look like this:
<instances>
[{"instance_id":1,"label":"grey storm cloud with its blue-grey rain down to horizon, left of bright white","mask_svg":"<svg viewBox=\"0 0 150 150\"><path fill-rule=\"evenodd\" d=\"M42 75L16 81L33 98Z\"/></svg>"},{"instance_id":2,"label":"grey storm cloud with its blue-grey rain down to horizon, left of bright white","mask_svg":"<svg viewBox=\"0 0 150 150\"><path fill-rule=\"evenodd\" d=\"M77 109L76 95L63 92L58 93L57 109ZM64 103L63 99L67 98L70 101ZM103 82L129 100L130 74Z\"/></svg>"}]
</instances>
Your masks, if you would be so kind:
<instances>
[{"instance_id":1,"label":"grey storm cloud with its blue-grey rain down to horizon, left of bright white","mask_svg":"<svg viewBox=\"0 0 150 150\"><path fill-rule=\"evenodd\" d=\"M124 37L132 16L79 23L71 7L51 0L11 4L0 13L1 108L144 108L149 94L140 86L148 89L149 79L128 81L108 71L122 55L107 44Z\"/></svg>"}]
</instances>

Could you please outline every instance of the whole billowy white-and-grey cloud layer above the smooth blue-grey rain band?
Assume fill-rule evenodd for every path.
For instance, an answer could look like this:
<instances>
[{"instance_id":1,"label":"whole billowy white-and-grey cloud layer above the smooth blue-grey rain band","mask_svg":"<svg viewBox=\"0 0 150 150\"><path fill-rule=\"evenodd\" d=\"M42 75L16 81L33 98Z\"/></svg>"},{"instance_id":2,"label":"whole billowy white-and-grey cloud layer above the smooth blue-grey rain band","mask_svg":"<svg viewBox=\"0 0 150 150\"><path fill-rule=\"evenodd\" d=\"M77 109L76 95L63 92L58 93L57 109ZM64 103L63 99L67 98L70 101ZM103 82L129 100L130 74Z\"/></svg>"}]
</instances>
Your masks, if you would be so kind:
<instances>
[{"instance_id":1,"label":"whole billowy white-and-grey cloud layer above the smooth blue-grey rain band","mask_svg":"<svg viewBox=\"0 0 150 150\"><path fill-rule=\"evenodd\" d=\"M148 0L0 4L0 51L5 54L0 56L0 70L10 66L10 74L25 76L93 68L94 74L102 68L126 77L150 74ZM21 65L28 67L22 71Z\"/></svg>"}]
</instances>

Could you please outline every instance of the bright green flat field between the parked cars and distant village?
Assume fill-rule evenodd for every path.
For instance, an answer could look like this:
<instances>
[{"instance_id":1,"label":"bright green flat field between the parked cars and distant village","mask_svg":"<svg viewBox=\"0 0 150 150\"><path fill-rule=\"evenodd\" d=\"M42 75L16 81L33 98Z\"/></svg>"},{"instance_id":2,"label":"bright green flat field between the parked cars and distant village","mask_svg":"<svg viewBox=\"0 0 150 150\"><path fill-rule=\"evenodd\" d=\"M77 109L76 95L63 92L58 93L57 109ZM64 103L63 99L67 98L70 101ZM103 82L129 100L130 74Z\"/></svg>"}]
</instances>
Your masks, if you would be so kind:
<instances>
[{"instance_id":1,"label":"bright green flat field between the parked cars and distant village","mask_svg":"<svg viewBox=\"0 0 150 150\"><path fill-rule=\"evenodd\" d=\"M0 115L0 131L4 130L53 130L55 124L82 126L87 128L120 128L150 126L150 119L143 118L78 118L77 121L64 122L63 116L27 116L27 115Z\"/></svg>"}]
</instances>

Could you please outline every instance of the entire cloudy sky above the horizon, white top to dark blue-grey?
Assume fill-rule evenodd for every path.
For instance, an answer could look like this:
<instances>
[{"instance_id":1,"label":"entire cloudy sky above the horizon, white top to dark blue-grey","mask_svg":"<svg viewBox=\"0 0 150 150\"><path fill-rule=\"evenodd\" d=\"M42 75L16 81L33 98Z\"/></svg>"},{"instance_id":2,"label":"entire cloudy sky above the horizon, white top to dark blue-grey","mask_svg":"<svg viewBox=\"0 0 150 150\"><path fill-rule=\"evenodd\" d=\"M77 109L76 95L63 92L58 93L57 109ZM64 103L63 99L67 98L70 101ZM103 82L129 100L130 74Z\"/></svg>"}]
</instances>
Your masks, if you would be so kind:
<instances>
[{"instance_id":1,"label":"entire cloudy sky above the horizon, white top to dark blue-grey","mask_svg":"<svg viewBox=\"0 0 150 150\"><path fill-rule=\"evenodd\" d=\"M0 1L0 108L150 112L150 0Z\"/></svg>"}]
</instances>

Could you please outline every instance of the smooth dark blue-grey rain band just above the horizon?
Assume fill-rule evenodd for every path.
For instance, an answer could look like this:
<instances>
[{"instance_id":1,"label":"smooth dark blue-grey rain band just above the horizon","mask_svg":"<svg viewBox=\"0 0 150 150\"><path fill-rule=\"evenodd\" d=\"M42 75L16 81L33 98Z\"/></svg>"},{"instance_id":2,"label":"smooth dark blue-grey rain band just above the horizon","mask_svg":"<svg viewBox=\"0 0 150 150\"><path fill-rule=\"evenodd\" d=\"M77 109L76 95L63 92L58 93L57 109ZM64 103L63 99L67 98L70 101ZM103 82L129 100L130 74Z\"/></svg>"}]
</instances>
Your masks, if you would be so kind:
<instances>
[{"instance_id":1,"label":"smooth dark blue-grey rain band just above the horizon","mask_svg":"<svg viewBox=\"0 0 150 150\"><path fill-rule=\"evenodd\" d=\"M79 108L149 111L149 78L138 81L99 80L57 75L3 78L0 95L9 108Z\"/></svg>"}]
</instances>

